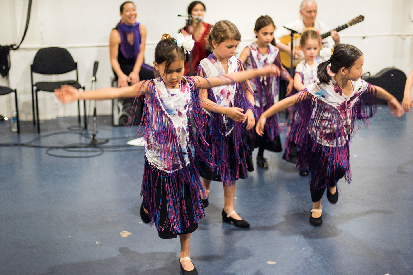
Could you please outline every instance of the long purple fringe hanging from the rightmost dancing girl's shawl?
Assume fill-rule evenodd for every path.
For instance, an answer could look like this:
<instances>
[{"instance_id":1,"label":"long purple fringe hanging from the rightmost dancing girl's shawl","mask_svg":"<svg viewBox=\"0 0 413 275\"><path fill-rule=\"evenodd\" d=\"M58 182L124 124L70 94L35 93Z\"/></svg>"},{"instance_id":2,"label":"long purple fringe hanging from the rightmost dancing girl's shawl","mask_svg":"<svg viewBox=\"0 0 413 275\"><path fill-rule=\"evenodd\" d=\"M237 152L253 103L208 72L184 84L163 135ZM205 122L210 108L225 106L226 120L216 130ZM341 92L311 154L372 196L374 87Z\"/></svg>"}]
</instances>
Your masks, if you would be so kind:
<instances>
[{"instance_id":1,"label":"long purple fringe hanging from the rightmost dancing girl's shawl","mask_svg":"<svg viewBox=\"0 0 413 275\"><path fill-rule=\"evenodd\" d=\"M313 182L317 183L323 165L327 165L327 171L331 173L327 173L326 184L330 182L330 175L334 176L339 173L338 169L346 171L344 178L350 183L349 141L354 135L354 127L356 126L357 129L360 127L360 122L356 121L368 125L368 118L374 115L375 94L374 87L369 85L359 96L352 108L352 123L349 133L346 134L339 111L304 89L293 109L299 115L299 119L292 124L288 137L301 148L296 164L297 169L309 167L310 171L314 172L313 176L316 177ZM322 119L313 120L313 118ZM323 136L324 140L330 141L328 146L321 145L316 138L313 138L318 136L318 130L323 127L331 130L328 136Z\"/></svg>"}]
</instances>

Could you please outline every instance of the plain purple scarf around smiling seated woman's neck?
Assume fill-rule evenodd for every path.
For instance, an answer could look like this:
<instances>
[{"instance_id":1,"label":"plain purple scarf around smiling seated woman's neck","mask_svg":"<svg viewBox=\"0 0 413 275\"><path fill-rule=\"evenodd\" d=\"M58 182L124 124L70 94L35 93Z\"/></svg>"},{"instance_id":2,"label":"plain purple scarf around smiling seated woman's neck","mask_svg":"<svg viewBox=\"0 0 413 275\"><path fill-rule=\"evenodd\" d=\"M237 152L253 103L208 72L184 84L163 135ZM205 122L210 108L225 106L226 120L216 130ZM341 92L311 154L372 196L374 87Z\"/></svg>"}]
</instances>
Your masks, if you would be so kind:
<instances>
[{"instance_id":1,"label":"plain purple scarf around smiling seated woman's neck","mask_svg":"<svg viewBox=\"0 0 413 275\"><path fill-rule=\"evenodd\" d=\"M139 54L139 47L140 47L140 28L139 23L133 24L133 26L128 26L123 24L122 21L116 26L116 30L119 31L119 35L121 36L121 44L119 45L119 50L125 56L126 59L133 58L136 60L136 57ZM128 33L133 32L133 45L129 44L128 42Z\"/></svg>"}]
</instances>

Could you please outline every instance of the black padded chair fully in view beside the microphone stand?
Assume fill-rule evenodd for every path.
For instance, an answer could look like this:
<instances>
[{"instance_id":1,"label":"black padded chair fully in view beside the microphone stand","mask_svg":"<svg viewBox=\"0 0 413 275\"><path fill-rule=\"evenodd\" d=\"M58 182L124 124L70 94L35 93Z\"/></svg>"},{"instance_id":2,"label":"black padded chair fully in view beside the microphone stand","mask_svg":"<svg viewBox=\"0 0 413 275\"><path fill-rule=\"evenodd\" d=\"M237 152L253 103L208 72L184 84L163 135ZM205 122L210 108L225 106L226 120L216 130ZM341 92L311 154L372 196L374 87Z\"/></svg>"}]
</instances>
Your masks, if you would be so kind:
<instances>
[{"instance_id":1,"label":"black padded chair fully in view beside the microphone stand","mask_svg":"<svg viewBox=\"0 0 413 275\"><path fill-rule=\"evenodd\" d=\"M37 120L37 132L40 134L40 120L39 120L39 104L37 98L37 92L55 92L55 89L60 88L61 85L67 84L75 87L76 89L85 89L84 86L78 82L78 69L77 63L73 60L71 54L64 48L60 47L48 47L39 49L34 56L33 64L30 66L31 70L31 100L33 109L33 125L36 125ZM66 80L57 82L36 82L33 84L33 73L39 73L42 75L60 75L63 73L69 73L76 70L76 80ZM36 87L36 89L34 89ZM35 97L36 94L36 116L35 116ZM86 101L84 101L85 111L85 128L86 126ZM80 119L80 101L78 101L78 122Z\"/></svg>"}]
</instances>

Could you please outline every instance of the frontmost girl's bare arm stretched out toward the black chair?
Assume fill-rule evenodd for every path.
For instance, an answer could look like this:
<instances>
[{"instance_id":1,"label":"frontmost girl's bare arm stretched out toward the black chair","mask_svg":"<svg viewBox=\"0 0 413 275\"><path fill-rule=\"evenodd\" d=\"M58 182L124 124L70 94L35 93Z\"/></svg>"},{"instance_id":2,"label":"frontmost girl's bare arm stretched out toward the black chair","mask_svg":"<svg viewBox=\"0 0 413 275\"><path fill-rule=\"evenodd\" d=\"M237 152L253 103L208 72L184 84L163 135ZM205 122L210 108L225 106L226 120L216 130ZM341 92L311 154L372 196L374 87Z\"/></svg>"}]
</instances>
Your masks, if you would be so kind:
<instances>
[{"instance_id":1,"label":"frontmost girl's bare arm stretched out toward the black chair","mask_svg":"<svg viewBox=\"0 0 413 275\"><path fill-rule=\"evenodd\" d=\"M69 103L79 99L116 99L119 97L135 97L137 94L141 96L146 93L148 80L140 81L133 86L121 88L103 88L89 92L79 92L78 89L70 85L62 85L60 89L55 89L56 97L62 103ZM139 93L138 93L139 92Z\"/></svg>"}]
</instances>

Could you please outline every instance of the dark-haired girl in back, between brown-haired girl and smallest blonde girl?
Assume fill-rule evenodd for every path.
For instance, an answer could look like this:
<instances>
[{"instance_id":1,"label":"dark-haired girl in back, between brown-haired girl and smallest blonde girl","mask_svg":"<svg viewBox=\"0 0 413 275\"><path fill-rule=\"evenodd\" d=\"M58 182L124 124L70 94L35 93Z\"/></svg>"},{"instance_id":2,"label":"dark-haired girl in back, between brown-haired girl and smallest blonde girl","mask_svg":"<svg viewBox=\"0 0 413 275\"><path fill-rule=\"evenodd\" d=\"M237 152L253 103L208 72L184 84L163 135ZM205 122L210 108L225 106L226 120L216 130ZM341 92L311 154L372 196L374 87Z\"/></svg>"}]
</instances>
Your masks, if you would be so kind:
<instances>
[{"instance_id":1,"label":"dark-haired girl in back, between brown-haired girl and smallest blonde girl","mask_svg":"<svg viewBox=\"0 0 413 275\"><path fill-rule=\"evenodd\" d=\"M244 63L245 69L263 68L268 64L275 64L281 73L281 77L290 83L287 87L287 94L293 86L293 79L287 70L281 65L280 50L275 47L274 38L275 24L270 16L260 16L255 22L255 38L257 41L245 47L240 55L240 61ZM255 110L261 115L265 110L273 106L278 101L280 91L279 77L254 78L250 81L254 90L256 103ZM254 129L249 132L250 149L259 147L257 155L257 165L262 169L268 169L268 163L264 157L264 150L281 152L281 140L278 132L278 118L274 115L265 125L264 136L256 138Z\"/></svg>"}]
</instances>

